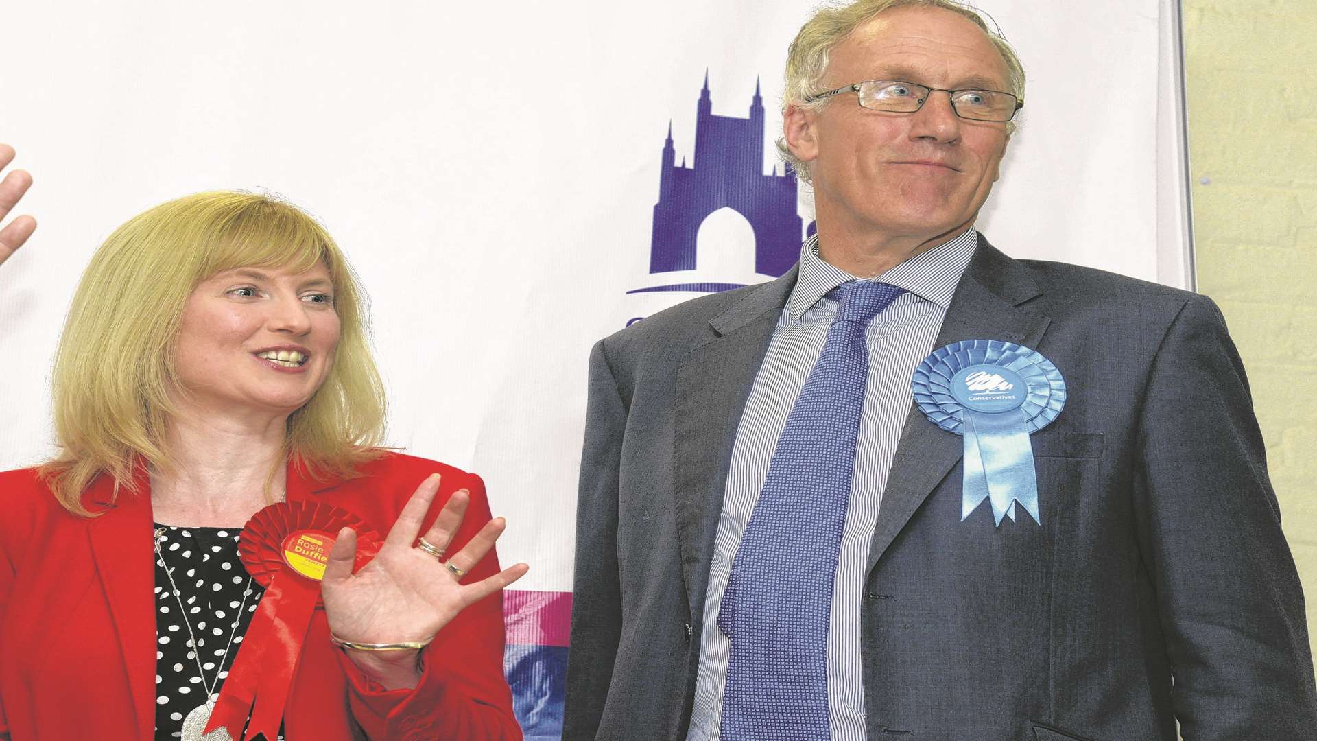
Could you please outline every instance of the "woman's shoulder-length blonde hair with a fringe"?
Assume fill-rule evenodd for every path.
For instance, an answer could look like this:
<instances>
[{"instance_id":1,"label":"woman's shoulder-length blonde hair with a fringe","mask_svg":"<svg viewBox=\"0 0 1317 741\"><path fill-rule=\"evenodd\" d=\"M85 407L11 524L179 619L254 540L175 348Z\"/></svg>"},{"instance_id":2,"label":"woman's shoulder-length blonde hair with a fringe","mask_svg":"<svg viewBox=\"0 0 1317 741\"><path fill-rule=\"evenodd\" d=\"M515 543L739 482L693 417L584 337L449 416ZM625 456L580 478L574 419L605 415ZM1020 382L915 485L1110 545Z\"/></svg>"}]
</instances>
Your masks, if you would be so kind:
<instances>
[{"instance_id":1,"label":"woman's shoulder-length blonde hair with a fringe","mask_svg":"<svg viewBox=\"0 0 1317 741\"><path fill-rule=\"evenodd\" d=\"M136 467L167 471L165 432L179 388L174 341L192 290L233 268L303 272L333 281L338 345L324 385L288 417L284 456L316 477L350 477L377 458L385 388L369 347L366 297L324 227L267 195L213 191L150 208L119 227L78 283L55 356L54 426L61 452L41 477L68 512L100 475L136 492ZM271 479L275 475L271 471Z\"/></svg>"}]
</instances>

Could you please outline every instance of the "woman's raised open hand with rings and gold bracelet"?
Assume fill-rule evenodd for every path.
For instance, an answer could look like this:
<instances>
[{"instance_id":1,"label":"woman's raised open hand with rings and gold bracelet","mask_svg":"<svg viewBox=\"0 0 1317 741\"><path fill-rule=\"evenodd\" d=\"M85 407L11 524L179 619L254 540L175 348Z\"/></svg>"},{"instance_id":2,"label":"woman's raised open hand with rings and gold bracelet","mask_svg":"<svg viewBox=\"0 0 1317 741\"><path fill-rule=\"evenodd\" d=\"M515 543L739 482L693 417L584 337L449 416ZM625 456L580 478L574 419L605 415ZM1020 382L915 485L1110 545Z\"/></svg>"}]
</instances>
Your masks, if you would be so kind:
<instances>
[{"instance_id":1,"label":"woman's raised open hand with rings and gold bracelet","mask_svg":"<svg viewBox=\"0 0 1317 741\"><path fill-rule=\"evenodd\" d=\"M499 574L460 584L503 533L503 518L485 523L470 542L446 559L417 547L420 527L439 492L439 475L425 479L398 516L375 558L352 572L357 534L344 527L329 550L320 583L329 632L353 643L428 642L469 605L520 579L529 567L518 563ZM470 494L453 493L435 525L420 535L432 548L446 551L462 523ZM356 651L349 655L386 687L414 686L416 651Z\"/></svg>"}]
</instances>

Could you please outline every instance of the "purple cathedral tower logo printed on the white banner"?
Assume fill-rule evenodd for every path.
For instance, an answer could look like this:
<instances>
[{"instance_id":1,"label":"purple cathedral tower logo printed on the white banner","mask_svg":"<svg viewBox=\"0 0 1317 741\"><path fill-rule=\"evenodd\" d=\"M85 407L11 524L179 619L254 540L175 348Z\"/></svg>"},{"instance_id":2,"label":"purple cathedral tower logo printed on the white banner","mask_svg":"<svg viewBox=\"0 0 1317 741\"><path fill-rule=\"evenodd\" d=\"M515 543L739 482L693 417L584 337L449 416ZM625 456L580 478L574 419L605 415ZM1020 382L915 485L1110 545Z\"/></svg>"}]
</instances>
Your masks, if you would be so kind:
<instances>
[{"instance_id":1,"label":"purple cathedral tower logo printed on the white banner","mask_svg":"<svg viewBox=\"0 0 1317 741\"><path fill-rule=\"evenodd\" d=\"M709 73L699 92L695 116L695 157L677 163L672 123L662 148L658 203L655 204L649 273L695 270L697 237L711 214L731 208L748 223L755 236L755 273L780 277L801 253L803 220L797 212L795 174L774 166L764 173L764 98L759 82L751 99L749 117L716 116L709 92ZM810 224L810 233L814 224ZM687 273L689 276L689 273ZM741 287L734 282L678 282L627 291L715 293Z\"/></svg>"}]
</instances>

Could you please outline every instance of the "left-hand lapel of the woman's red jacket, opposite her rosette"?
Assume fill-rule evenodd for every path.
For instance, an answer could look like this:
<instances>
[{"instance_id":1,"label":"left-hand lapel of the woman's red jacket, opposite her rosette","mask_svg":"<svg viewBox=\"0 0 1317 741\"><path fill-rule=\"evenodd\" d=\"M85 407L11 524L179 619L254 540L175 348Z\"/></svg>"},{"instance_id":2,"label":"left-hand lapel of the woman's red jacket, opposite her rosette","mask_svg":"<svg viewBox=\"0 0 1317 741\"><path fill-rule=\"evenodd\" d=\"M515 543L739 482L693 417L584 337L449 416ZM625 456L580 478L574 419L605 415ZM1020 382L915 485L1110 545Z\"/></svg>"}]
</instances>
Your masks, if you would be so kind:
<instances>
[{"instance_id":1,"label":"left-hand lapel of the woman's red jacket, opposite her rosette","mask_svg":"<svg viewBox=\"0 0 1317 741\"><path fill-rule=\"evenodd\" d=\"M155 724L155 558L150 481L144 475L137 483L137 493L121 489L113 504L113 479L100 476L92 484L88 498L109 509L87 522L87 535L124 653L138 736L149 737L146 729Z\"/></svg>"}]
</instances>

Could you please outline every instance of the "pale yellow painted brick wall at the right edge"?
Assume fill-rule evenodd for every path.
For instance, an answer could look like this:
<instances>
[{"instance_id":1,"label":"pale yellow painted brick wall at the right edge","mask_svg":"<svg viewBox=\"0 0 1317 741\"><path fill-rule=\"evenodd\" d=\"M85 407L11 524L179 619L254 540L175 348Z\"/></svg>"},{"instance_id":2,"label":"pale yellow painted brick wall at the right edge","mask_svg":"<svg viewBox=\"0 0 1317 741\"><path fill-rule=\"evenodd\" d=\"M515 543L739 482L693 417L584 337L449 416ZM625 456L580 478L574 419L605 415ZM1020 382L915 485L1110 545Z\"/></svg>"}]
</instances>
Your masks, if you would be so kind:
<instances>
[{"instance_id":1,"label":"pale yellow painted brick wall at the right edge","mask_svg":"<svg viewBox=\"0 0 1317 741\"><path fill-rule=\"evenodd\" d=\"M1317 1L1184 0L1198 290L1226 315L1317 636Z\"/></svg>"}]
</instances>

